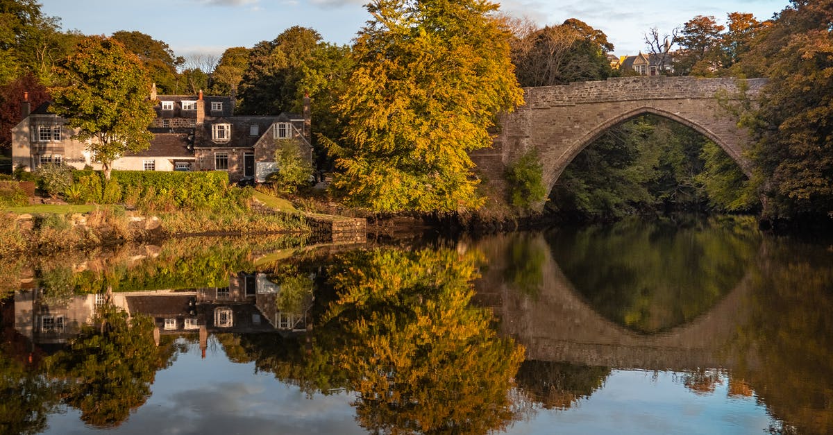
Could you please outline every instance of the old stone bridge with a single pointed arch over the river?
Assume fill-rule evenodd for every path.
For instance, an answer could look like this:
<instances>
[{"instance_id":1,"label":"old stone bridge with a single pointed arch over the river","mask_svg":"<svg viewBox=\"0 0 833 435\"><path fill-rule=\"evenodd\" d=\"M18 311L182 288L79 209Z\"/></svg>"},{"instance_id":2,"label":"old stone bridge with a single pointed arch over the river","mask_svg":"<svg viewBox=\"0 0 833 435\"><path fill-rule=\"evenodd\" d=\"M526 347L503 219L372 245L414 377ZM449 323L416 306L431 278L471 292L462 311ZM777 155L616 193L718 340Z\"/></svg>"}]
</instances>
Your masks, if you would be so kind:
<instances>
[{"instance_id":1,"label":"old stone bridge with a single pointed arch over the river","mask_svg":"<svg viewBox=\"0 0 833 435\"><path fill-rule=\"evenodd\" d=\"M766 78L747 80L755 97ZM718 95L736 96L735 78L616 77L566 86L526 87L526 104L501 117L491 148L471 153L472 160L498 192L506 167L531 149L543 165L547 195L578 153L608 128L646 113L680 122L723 148L748 175L742 150L749 142L736 117L720 106Z\"/></svg>"}]
</instances>

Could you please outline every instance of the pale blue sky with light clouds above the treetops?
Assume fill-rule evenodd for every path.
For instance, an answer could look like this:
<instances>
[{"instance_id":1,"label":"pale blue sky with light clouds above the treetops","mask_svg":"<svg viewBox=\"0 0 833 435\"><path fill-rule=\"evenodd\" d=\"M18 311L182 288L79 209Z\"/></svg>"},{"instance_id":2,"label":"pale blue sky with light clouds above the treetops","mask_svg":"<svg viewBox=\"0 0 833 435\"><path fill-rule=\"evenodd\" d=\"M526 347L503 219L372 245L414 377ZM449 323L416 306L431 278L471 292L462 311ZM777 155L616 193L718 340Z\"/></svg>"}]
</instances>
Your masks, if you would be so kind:
<instances>
[{"instance_id":1,"label":"pale blue sky with light clouds above the treetops","mask_svg":"<svg viewBox=\"0 0 833 435\"><path fill-rule=\"evenodd\" d=\"M313 28L324 41L348 44L370 14L367 0L40 0L41 11L61 18L64 30L110 35L147 33L182 57L219 56L228 47L253 47L295 25ZM617 55L645 51L645 33L671 32L696 15L720 23L731 12L763 20L789 0L498 0L501 11L540 26L578 18L600 29Z\"/></svg>"}]
</instances>

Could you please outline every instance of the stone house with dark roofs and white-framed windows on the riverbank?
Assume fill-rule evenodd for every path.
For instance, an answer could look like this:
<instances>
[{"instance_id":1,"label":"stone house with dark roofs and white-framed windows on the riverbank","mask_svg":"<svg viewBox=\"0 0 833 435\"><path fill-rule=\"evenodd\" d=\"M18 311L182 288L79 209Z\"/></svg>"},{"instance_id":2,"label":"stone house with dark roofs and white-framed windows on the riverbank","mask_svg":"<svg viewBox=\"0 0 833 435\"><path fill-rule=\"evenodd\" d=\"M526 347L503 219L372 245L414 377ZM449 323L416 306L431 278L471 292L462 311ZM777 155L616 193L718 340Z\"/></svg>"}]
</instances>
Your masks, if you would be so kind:
<instances>
[{"instance_id":1,"label":"stone house with dark roofs and white-framed windows on the riverbank","mask_svg":"<svg viewBox=\"0 0 833 435\"><path fill-rule=\"evenodd\" d=\"M127 153L112 163L117 170L133 171L227 171L229 179L265 181L277 170L276 141L297 143L302 156L312 163L309 98L302 115L235 116L233 97L150 94L157 117L148 130L150 148ZM24 97L24 100L27 98ZM22 121L12 128L12 164L32 170L45 163L60 163L82 169L101 169L92 161L87 143L72 138L76 132L44 103L30 112L22 103Z\"/></svg>"}]
</instances>

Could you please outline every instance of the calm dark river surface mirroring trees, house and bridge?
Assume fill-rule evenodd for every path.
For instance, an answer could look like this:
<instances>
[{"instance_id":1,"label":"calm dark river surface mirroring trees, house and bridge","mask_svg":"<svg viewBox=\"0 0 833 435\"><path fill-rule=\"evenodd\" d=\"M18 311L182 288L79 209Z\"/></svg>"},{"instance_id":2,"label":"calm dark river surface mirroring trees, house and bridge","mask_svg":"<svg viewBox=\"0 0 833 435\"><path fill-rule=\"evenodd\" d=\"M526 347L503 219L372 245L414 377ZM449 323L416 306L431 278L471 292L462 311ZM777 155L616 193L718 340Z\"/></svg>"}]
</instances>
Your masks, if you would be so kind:
<instances>
[{"instance_id":1,"label":"calm dark river surface mirroring trees, house and bridge","mask_svg":"<svg viewBox=\"0 0 833 435\"><path fill-rule=\"evenodd\" d=\"M0 433L833 433L833 246L743 218L0 260Z\"/></svg>"}]
</instances>

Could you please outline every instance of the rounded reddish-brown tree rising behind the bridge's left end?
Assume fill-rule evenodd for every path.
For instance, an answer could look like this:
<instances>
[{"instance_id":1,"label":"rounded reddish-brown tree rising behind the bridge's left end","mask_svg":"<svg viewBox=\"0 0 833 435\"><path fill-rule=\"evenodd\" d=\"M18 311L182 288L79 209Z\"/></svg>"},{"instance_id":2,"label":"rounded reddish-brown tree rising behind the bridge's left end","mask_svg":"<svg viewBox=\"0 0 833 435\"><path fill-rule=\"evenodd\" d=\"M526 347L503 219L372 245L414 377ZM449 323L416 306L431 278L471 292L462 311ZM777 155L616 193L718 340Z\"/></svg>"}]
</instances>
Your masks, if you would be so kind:
<instances>
[{"instance_id":1,"label":"rounded reddish-brown tree rising behind the bridge's left end","mask_svg":"<svg viewBox=\"0 0 833 435\"><path fill-rule=\"evenodd\" d=\"M613 44L604 32L576 18L519 39L514 44L512 62L521 86L561 85L611 76L607 53L613 51Z\"/></svg>"}]
</instances>

